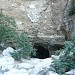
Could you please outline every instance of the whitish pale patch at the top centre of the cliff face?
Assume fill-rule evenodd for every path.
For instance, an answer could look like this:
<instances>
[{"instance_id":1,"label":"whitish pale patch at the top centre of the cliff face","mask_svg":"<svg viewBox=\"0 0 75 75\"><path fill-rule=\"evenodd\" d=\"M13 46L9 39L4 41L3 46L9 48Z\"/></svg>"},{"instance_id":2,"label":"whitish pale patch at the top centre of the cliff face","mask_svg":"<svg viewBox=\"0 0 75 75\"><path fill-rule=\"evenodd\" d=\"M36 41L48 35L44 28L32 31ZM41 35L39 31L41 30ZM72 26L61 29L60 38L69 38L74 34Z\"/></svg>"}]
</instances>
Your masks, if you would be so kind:
<instances>
[{"instance_id":1,"label":"whitish pale patch at the top centre of the cliff face","mask_svg":"<svg viewBox=\"0 0 75 75\"><path fill-rule=\"evenodd\" d=\"M33 23L40 23L46 8L46 0L32 1L27 8L27 15Z\"/></svg>"}]
</instances>

